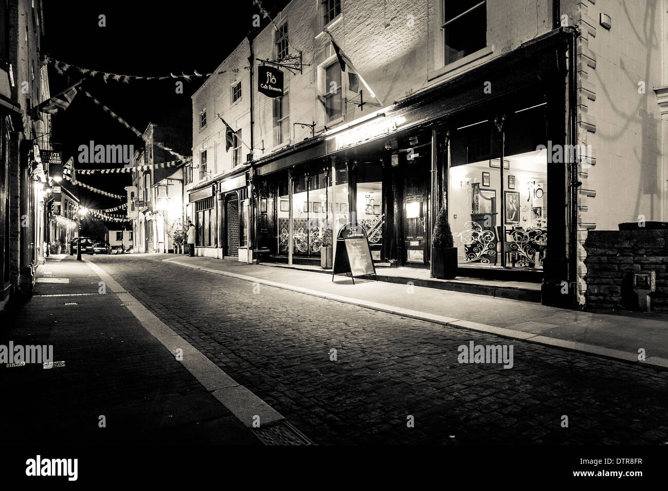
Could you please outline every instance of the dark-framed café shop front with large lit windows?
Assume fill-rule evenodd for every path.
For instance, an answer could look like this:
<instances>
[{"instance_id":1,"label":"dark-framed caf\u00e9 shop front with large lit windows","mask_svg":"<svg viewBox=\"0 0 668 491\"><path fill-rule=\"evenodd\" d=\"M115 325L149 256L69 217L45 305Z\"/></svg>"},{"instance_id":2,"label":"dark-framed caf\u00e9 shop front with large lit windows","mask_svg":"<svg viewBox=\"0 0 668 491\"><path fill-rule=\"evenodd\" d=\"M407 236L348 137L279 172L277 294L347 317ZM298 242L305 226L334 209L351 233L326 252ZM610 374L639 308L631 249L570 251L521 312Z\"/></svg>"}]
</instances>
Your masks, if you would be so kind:
<instances>
[{"instance_id":1,"label":"dark-framed caf\u00e9 shop front with large lit windows","mask_svg":"<svg viewBox=\"0 0 668 491\"><path fill-rule=\"evenodd\" d=\"M325 264L357 222L377 266L428 269L445 208L460 276L570 283L576 163L550 153L576 139L561 34L257 162L263 260Z\"/></svg>"}]
</instances>

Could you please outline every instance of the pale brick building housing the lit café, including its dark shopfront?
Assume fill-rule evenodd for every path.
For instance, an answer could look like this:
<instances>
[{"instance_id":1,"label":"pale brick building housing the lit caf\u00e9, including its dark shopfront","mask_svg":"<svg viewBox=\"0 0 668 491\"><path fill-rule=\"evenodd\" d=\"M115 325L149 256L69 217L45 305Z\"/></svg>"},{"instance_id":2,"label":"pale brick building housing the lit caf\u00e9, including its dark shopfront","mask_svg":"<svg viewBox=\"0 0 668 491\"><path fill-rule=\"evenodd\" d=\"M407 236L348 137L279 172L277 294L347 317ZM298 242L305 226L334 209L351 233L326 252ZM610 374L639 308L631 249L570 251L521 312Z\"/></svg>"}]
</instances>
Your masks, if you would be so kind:
<instances>
[{"instance_id":1,"label":"pale brick building housing the lit caf\u00e9, including its dark shopfront","mask_svg":"<svg viewBox=\"0 0 668 491\"><path fill-rule=\"evenodd\" d=\"M246 260L316 263L355 220L374 261L430 267L446 208L460 275L585 305L589 230L666 220L663 3L291 1L193 96L189 201L215 220L198 253L235 255L234 191L240 258L246 240ZM263 65L282 98L258 92ZM218 114L253 152L224 149Z\"/></svg>"}]
</instances>

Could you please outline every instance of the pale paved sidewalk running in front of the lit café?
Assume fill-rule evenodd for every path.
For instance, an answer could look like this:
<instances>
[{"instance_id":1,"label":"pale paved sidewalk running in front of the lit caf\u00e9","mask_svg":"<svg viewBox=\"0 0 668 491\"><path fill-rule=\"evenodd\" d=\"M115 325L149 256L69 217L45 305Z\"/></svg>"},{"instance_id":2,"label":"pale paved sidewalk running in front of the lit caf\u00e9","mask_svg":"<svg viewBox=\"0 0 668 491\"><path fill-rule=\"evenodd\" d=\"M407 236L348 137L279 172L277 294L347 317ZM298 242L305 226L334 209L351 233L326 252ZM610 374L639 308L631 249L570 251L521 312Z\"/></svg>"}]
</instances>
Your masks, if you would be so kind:
<instances>
[{"instance_id":1,"label":"pale paved sidewalk running in front of the lit caf\u00e9","mask_svg":"<svg viewBox=\"0 0 668 491\"><path fill-rule=\"evenodd\" d=\"M171 263L212 273L242 275L273 286L337 301L576 351L668 367L668 315L610 315L532 302L355 279L207 257L172 256Z\"/></svg>"}]
</instances>

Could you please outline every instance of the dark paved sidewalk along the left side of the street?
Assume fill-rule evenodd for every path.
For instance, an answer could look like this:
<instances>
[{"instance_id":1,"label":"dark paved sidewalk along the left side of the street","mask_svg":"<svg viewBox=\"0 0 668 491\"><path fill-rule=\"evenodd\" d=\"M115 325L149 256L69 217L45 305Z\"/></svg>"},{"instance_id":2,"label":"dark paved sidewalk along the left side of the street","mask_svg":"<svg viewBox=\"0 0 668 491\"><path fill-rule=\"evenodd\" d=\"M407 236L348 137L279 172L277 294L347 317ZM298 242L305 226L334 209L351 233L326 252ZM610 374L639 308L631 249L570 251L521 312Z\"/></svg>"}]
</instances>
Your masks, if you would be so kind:
<instances>
[{"instance_id":1,"label":"dark paved sidewalk along the left side of the street","mask_svg":"<svg viewBox=\"0 0 668 491\"><path fill-rule=\"evenodd\" d=\"M116 293L99 289L87 263L52 256L33 297L0 313L0 345L53 345L53 361L65 362L0 364L7 444L261 444Z\"/></svg>"}]
</instances>

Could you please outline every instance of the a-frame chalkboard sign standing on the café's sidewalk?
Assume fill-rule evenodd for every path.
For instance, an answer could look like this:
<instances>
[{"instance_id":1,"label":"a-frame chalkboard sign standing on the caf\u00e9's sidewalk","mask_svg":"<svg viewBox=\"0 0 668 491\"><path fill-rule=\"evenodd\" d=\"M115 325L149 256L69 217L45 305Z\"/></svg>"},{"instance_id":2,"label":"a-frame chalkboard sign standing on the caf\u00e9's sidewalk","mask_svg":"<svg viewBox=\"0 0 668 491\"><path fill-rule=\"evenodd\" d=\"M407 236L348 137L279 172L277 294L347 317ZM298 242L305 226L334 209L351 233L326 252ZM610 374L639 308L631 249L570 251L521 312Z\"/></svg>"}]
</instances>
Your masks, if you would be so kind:
<instances>
[{"instance_id":1,"label":"a-frame chalkboard sign standing on the caf\u00e9's sidewalk","mask_svg":"<svg viewBox=\"0 0 668 491\"><path fill-rule=\"evenodd\" d=\"M332 281L334 275L350 273L355 285L356 276L375 275L369 238L364 228L354 222L345 224L337 236L336 256L332 267Z\"/></svg>"}]
</instances>

